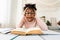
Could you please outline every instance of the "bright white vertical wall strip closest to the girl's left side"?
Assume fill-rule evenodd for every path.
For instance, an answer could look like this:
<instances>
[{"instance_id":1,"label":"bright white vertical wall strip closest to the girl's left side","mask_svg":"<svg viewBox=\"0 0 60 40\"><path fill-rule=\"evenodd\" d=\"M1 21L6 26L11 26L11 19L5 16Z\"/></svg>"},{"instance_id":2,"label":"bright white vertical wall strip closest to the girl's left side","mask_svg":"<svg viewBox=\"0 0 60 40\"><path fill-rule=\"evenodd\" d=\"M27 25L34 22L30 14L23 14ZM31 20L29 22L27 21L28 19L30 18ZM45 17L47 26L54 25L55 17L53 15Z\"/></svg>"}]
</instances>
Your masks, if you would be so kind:
<instances>
[{"instance_id":1,"label":"bright white vertical wall strip closest to the girl's left side","mask_svg":"<svg viewBox=\"0 0 60 40\"><path fill-rule=\"evenodd\" d=\"M23 4L22 4L22 0L18 0L17 14L16 14L16 27L20 23L20 20L22 19L22 16L23 16Z\"/></svg>"}]
</instances>

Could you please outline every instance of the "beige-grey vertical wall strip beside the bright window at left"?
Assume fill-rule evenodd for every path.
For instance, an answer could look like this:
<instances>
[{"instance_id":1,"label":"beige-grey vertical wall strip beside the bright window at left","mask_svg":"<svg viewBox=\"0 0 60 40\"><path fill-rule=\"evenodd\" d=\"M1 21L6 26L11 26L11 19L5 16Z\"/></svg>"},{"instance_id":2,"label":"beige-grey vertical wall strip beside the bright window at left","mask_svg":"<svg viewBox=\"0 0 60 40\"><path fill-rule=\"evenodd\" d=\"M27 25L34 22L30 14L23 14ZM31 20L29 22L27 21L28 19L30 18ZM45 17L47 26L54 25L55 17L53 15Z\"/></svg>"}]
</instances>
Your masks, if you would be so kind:
<instances>
[{"instance_id":1,"label":"beige-grey vertical wall strip beside the bright window at left","mask_svg":"<svg viewBox=\"0 0 60 40\"><path fill-rule=\"evenodd\" d=\"M18 0L11 0L10 27L16 27L17 2Z\"/></svg>"}]
</instances>

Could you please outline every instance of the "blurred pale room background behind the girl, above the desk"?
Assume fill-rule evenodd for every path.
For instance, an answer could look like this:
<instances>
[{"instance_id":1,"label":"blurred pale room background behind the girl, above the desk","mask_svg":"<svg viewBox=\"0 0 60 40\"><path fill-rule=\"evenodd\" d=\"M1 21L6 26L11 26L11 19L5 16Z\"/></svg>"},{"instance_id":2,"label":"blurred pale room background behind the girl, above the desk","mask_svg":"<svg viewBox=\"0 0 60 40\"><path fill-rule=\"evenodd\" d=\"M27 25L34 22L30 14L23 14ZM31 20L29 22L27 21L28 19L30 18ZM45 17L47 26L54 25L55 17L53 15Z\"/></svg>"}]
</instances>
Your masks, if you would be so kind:
<instances>
[{"instance_id":1,"label":"blurred pale room background behind the girl, above the desk","mask_svg":"<svg viewBox=\"0 0 60 40\"><path fill-rule=\"evenodd\" d=\"M0 27L17 27L27 3L36 4L37 16L49 29L60 29L60 0L0 0Z\"/></svg>"}]
</instances>

